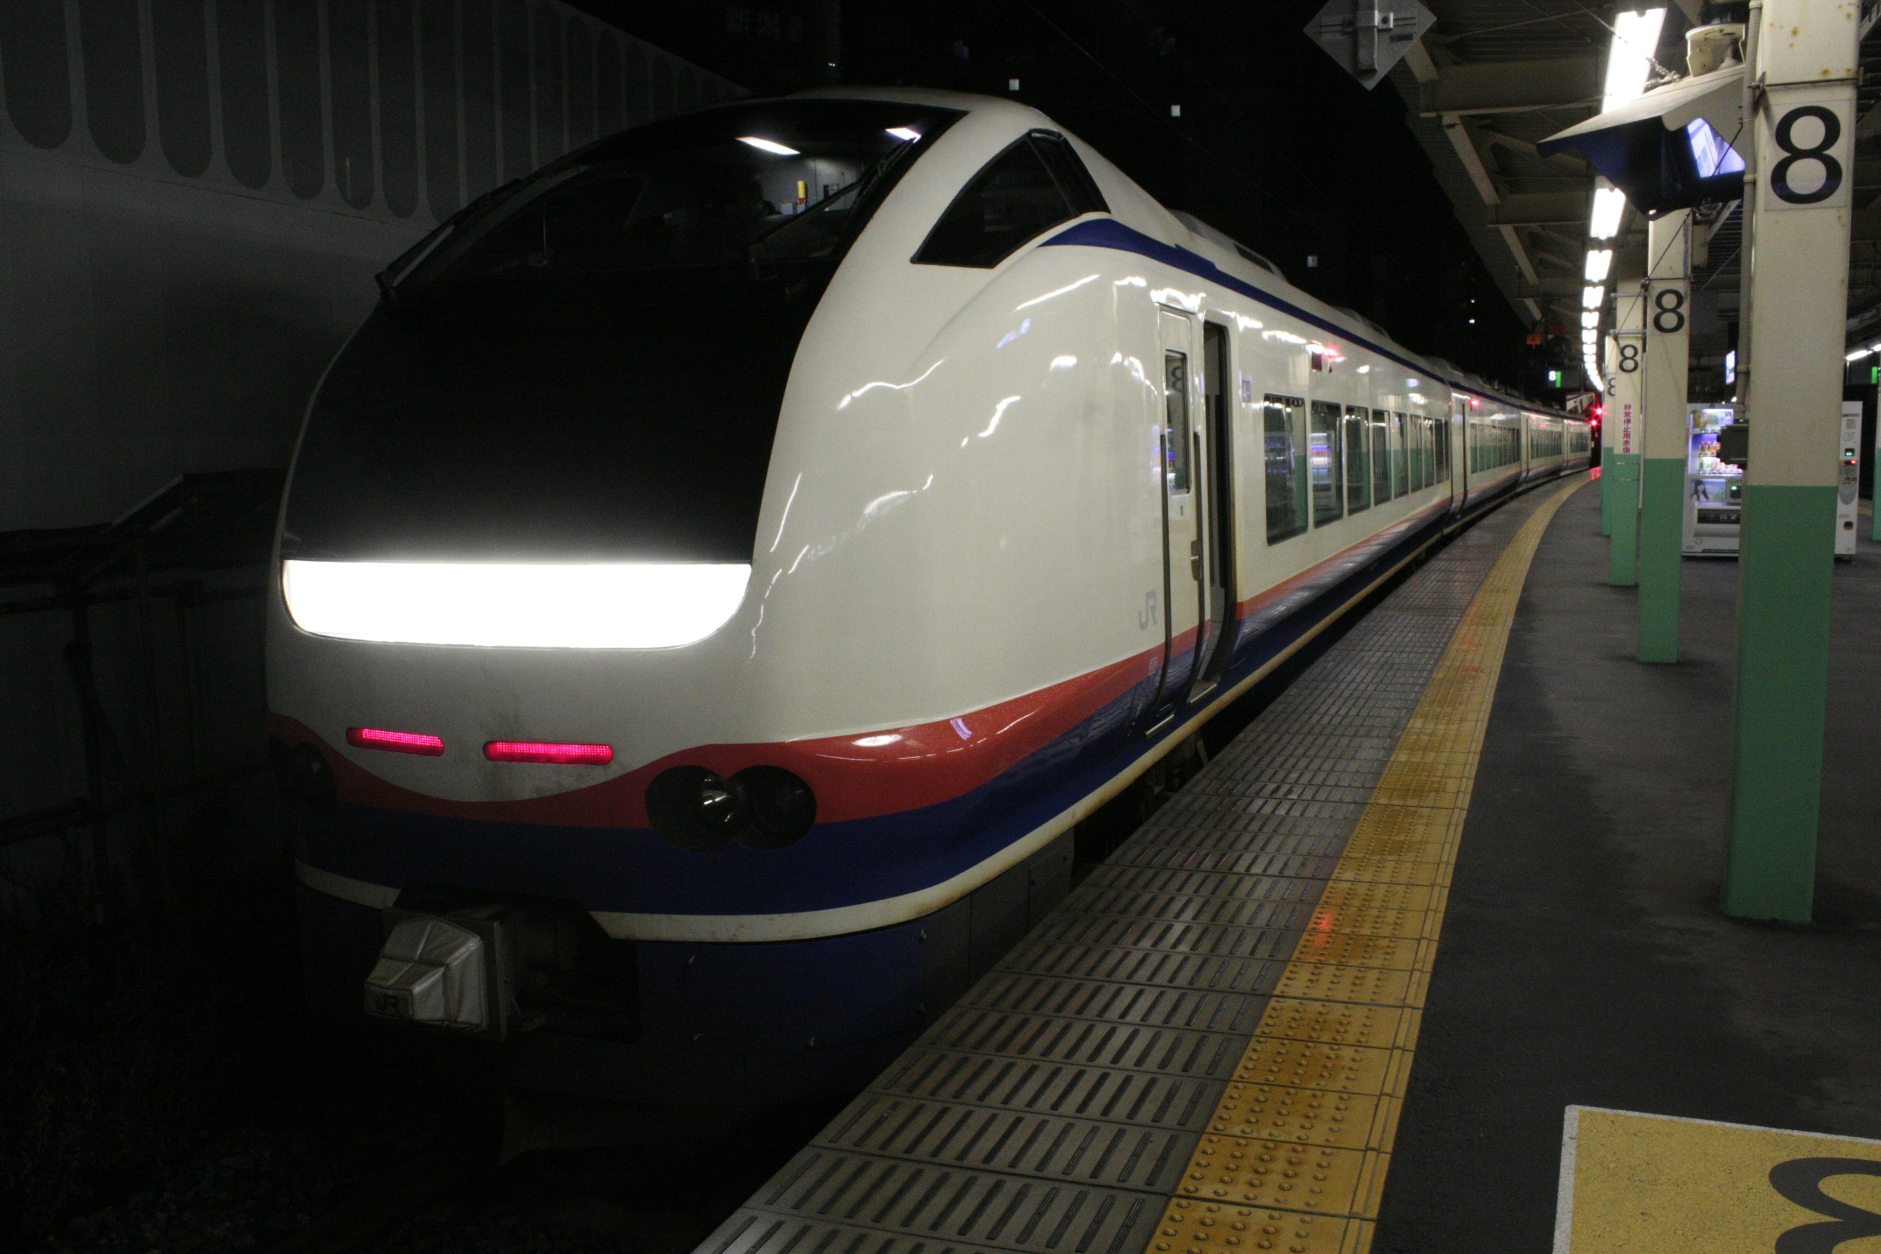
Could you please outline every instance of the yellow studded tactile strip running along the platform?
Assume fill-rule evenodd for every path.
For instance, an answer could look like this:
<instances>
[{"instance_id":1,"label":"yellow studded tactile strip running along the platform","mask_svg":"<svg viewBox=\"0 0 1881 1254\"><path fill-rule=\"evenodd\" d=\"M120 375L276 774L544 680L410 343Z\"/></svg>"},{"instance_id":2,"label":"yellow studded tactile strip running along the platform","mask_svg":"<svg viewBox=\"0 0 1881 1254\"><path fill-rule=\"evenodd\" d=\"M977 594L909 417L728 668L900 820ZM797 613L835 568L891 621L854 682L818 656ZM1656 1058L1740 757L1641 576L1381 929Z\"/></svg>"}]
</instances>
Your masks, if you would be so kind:
<instances>
[{"instance_id":1,"label":"yellow studded tactile strip running along the platform","mask_svg":"<svg viewBox=\"0 0 1881 1254\"><path fill-rule=\"evenodd\" d=\"M1561 487L1490 568L1371 793L1151 1254L1364 1254L1522 583Z\"/></svg>"}]
</instances>

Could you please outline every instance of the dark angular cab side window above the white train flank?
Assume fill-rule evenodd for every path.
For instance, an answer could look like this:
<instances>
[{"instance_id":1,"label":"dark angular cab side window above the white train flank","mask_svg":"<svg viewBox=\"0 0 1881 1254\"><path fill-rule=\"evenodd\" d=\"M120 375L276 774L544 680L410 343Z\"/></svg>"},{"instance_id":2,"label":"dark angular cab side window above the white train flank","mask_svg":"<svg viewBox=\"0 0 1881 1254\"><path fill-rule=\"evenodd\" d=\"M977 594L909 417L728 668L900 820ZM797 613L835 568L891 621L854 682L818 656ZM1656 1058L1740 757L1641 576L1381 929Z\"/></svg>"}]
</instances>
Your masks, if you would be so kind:
<instances>
[{"instance_id":1,"label":"dark angular cab side window above the white train flank","mask_svg":"<svg viewBox=\"0 0 1881 1254\"><path fill-rule=\"evenodd\" d=\"M1025 241L1087 212L1108 212L1091 171L1063 135L1033 132L972 177L914 261L989 269Z\"/></svg>"}]
</instances>

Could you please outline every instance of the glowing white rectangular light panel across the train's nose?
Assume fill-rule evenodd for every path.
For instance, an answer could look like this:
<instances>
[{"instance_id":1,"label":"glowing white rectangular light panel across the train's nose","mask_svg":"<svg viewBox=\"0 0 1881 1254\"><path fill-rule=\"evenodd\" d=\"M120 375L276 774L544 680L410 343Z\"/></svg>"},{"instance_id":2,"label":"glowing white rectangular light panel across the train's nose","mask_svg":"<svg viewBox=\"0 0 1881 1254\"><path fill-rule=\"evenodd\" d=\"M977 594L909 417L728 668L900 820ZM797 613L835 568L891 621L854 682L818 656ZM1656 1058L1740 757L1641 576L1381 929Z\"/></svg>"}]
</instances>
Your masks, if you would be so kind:
<instances>
[{"instance_id":1,"label":"glowing white rectangular light panel across the train's nose","mask_svg":"<svg viewBox=\"0 0 1881 1254\"><path fill-rule=\"evenodd\" d=\"M745 600L737 562L282 562L303 632L404 645L673 649Z\"/></svg>"}]
</instances>

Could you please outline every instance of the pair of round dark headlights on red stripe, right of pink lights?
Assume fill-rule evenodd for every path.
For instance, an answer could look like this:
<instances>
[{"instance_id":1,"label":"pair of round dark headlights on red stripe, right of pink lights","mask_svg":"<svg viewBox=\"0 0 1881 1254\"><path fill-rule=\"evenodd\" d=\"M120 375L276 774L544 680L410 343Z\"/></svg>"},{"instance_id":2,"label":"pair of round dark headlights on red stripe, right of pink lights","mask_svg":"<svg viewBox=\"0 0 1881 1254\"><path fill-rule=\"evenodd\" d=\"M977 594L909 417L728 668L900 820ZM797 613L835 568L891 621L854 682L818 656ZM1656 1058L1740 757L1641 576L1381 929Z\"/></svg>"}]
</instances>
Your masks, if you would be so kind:
<instances>
[{"instance_id":1,"label":"pair of round dark headlights on red stripe, right of pink lights","mask_svg":"<svg viewBox=\"0 0 1881 1254\"><path fill-rule=\"evenodd\" d=\"M647 786L647 820L683 850L717 850L730 840L781 850L816 822L816 793L782 767L745 767L732 778L672 767Z\"/></svg>"}]
</instances>

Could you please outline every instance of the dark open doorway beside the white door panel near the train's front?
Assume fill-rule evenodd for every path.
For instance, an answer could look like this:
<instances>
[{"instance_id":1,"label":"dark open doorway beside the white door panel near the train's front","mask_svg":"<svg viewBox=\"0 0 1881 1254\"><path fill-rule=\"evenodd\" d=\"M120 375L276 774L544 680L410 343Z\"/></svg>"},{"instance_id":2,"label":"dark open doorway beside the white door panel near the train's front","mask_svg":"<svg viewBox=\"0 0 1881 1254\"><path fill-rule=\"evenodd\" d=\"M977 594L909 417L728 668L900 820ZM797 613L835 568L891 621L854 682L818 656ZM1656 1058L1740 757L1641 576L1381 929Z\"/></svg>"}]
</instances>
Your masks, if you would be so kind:
<instances>
[{"instance_id":1,"label":"dark open doorway beside the white door panel near the train's front","mask_svg":"<svg viewBox=\"0 0 1881 1254\"><path fill-rule=\"evenodd\" d=\"M1194 641L1194 699L1221 681L1234 619L1234 402L1228 391L1228 329L1202 323L1202 427L1191 436L1202 547L1200 628Z\"/></svg>"}]
</instances>

